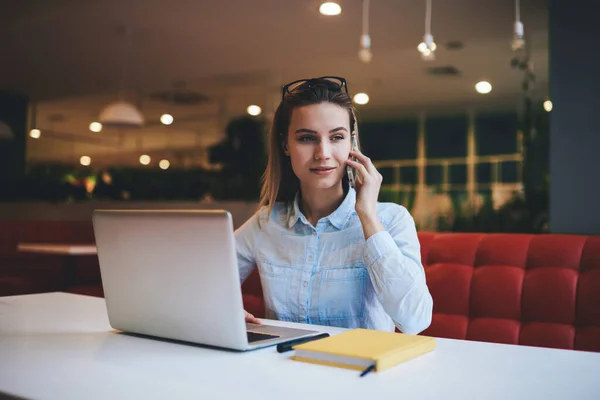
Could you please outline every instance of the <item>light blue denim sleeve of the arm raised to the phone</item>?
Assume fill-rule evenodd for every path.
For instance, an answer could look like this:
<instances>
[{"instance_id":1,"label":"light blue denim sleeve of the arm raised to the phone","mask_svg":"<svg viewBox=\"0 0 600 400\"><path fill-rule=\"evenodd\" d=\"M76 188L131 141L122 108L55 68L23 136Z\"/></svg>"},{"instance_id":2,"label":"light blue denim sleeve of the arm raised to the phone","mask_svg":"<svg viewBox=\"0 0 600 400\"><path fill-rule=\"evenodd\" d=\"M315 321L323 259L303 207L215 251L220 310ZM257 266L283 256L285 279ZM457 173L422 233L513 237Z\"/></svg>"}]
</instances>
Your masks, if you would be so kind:
<instances>
[{"instance_id":1,"label":"light blue denim sleeve of the arm raised to the phone","mask_svg":"<svg viewBox=\"0 0 600 400\"><path fill-rule=\"evenodd\" d=\"M417 334L431 324L433 299L425 280L415 223L406 208L395 205L384 226L386 230L365 242L367 270L394 324L403 333Z\"/></svg>"}]
</instances>

